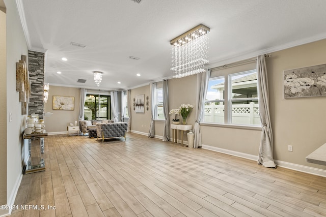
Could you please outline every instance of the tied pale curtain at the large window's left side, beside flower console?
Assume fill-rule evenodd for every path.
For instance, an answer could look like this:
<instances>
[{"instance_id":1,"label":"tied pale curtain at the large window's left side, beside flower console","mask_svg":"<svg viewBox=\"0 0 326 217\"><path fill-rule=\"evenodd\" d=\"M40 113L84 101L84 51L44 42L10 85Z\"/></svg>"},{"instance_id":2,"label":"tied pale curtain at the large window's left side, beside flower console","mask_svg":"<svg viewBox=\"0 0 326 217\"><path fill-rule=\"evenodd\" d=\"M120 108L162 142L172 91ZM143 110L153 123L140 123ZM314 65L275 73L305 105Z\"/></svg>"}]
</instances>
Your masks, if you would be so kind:
<instances>
[{"instance_id":1,"label":"tied pale curtain at the large window's left side, beside flower console","mask_svg":"<svg viewBox=\"0 0 326 217\"><path fill-rule=\"evenodd\" d=\"M207 92L207 86L210 78L210 69L207 69L206 72L197 74L197 102L196 102L196 122L194 125L194 148L202 146L202 135L200 133L199 123L203 119L204 108L205 108L205 97Z\"/></svg>"}]
</instances>

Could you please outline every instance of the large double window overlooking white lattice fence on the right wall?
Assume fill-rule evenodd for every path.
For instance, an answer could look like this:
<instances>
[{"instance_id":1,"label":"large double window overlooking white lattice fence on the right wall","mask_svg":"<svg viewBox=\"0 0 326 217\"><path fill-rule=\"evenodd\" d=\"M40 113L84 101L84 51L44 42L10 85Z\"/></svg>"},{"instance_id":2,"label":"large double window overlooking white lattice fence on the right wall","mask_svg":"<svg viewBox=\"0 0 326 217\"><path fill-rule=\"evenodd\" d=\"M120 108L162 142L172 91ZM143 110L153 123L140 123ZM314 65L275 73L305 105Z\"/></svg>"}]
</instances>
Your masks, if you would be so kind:
<instances>
[{"instance_id":1,"label":"large double window overlooking white lattice fence on the right wall","mask_svg":"<svg viewBox=\"0 0 326 217\"><path fill-rule=\"evenodd\" d=\"M261 126L256 70L210 78L205 99L204 122Z\"/></svg>"}]
</instances>

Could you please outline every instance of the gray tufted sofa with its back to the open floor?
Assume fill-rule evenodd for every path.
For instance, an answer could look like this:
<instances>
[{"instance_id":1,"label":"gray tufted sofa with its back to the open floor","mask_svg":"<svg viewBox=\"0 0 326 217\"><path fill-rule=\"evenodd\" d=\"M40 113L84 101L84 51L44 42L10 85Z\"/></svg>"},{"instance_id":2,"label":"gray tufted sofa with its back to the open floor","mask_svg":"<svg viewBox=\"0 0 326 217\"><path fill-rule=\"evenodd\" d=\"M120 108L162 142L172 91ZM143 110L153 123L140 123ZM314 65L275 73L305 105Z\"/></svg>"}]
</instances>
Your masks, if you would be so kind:
<instances>
[{"instance_id":1,"label":"gray tufted sofa with its back to the open floor","mask_svg":"<svg viewBox=\"0 0 326 217\"><path fill-rule=\"evenodd\" d=\"M104 139L123 136L126 141L127 129L128 123L126 122L96 123L97 139L102 138L103 142Z\"/></svg>"}]
</instances>

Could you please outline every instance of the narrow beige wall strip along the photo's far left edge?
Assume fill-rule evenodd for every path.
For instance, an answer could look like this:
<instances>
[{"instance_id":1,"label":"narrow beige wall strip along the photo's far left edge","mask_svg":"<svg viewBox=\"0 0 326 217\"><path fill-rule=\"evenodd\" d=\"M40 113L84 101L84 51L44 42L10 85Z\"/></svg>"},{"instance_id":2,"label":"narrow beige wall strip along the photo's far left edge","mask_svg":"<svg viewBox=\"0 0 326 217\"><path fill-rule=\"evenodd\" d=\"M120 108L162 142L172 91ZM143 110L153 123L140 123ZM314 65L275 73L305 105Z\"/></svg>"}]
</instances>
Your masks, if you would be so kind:
<instances>
[{"instance_id":1,"label":"narrow beige wall strip along the photo's far left edge","mask_svg":"<svg viewBox=\"0 0 326 217\"><path fill-rule=\"evenodd\" d=\"M0 92L7 92L7 61L6 61L6 10L0 8ZM7 102L6 94L0 95L1 102ZM0 128L2 129L0 143L0 204L7 203L7 104L0 104ZM1 210L0 210L1 211ZM1 214L1 212L0 212Z\"/></svg>"}]
</instances>

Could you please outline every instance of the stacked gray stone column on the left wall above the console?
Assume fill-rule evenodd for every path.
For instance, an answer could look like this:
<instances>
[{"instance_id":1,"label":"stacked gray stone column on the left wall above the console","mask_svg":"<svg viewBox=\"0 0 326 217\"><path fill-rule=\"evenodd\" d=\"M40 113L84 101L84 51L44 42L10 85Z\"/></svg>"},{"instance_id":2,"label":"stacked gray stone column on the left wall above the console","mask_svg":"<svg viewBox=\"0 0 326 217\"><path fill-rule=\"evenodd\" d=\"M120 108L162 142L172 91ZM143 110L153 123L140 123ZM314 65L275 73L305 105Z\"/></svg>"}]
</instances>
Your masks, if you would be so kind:
<instances>
[{"instance_id":1,"label":"stacked gray stone column on the left wall above the console","mask_svg":"<svg viewBox=\"0 0 326 217\"><path fill-rule=\"evenodd\" d=\"M44 53L29 51L29 75L31 81L29 115L38 114L39 119L43 119Z\"/></svg>"}]
</instances>

